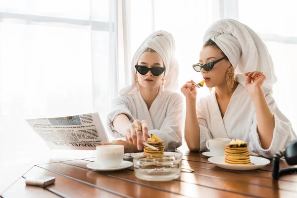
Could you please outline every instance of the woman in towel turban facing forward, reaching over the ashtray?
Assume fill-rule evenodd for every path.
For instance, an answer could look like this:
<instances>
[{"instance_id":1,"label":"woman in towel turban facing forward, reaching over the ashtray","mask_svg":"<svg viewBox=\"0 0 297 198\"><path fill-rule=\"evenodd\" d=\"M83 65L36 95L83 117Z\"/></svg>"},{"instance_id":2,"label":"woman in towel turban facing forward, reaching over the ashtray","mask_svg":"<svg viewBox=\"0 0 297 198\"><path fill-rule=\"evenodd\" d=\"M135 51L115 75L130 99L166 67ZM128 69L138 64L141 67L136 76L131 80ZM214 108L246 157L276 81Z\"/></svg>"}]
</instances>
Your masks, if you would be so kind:
<instances>
[{"instance_id":1,"label":"woman in towel turban facing forward, reaching over the ashtray","mask_svg":"<svg viewBox=\"0 0 297 198\"><path fill-rule=\"evenodd\" d=\"M132 59L132 82L112 101L108 129L125 146L125 152L143 149L151 134L159 137L165 150L174 151L182 144L182 96L178 87L178 63L175 42L165 31L151 34Z\"/></svg>"}]
</instances>

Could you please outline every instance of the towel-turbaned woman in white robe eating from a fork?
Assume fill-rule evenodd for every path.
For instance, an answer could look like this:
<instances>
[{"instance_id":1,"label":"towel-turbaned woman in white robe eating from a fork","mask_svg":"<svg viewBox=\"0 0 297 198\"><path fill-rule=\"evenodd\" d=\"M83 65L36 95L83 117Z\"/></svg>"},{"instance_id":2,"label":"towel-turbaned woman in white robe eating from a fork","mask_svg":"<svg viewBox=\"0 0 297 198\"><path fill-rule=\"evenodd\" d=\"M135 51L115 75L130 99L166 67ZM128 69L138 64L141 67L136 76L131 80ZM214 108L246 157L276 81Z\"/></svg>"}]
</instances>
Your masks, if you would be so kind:
<instances>
[{"instance_id":1,"label":"towel-turbaned woman in white robe eating from a fork","mask_svg":"<svg viewBox=\"0 0 297 198\"><path fill-rule=\"evenodd\" d=\"M196 103L195 82L181 88L188 147L203 151L211 138L240 139L248 143L249 151L273 157L296 139L296 133L272 97L277 78L265 44L233 19L210 25L203 42L199 63L193 67L210 91L215 89Z\"/></svg>"}]
</instances>

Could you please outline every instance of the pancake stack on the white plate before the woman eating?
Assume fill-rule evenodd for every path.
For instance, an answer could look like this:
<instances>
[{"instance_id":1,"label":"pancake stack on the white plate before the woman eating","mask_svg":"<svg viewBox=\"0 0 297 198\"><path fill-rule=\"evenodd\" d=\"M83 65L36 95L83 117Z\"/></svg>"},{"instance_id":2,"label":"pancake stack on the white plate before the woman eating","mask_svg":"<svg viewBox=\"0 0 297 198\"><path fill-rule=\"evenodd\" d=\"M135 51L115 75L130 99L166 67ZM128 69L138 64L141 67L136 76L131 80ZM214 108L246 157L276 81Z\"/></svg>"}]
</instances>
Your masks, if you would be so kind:
<instances>
[{"instance_id":1,"label":"pancake stack on the white plate before the woman eating","mask_svg":"<svg viewBox=\"0 0 297 198\"><path fill-rule=\"evenodd\" d=\"M247 143L242 140L232 140L225 146L225 162L228 164L251 164Z\"/></svg>"}]
</instances>

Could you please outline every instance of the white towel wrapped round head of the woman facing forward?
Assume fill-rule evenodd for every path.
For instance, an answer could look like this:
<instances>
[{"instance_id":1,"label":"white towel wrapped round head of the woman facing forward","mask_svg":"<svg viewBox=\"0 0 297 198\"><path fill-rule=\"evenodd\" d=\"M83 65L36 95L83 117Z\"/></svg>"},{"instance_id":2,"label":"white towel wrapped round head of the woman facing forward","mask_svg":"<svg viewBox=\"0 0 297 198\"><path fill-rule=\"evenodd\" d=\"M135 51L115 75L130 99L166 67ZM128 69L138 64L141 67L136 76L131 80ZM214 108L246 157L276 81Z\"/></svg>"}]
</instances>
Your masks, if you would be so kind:
<instances>
[{"instance_id":1,"label":"white towel wrapped round head of the woman facing forward","mask_svg":"<svg viewBox=\"0 0 297 198\"><path fill-rule=\"evenodd\" d=\"M174 57L174 38L169 32L156 31L148 36L134 54L131 64L131 85L120 90L121 96L137 92L135 82L136 69L134 66L137 64L141 54L148 48L155 50L164 62L166 68L164 90L174 92L178 88L178 62Z\"/></svg>"}]
</instances>

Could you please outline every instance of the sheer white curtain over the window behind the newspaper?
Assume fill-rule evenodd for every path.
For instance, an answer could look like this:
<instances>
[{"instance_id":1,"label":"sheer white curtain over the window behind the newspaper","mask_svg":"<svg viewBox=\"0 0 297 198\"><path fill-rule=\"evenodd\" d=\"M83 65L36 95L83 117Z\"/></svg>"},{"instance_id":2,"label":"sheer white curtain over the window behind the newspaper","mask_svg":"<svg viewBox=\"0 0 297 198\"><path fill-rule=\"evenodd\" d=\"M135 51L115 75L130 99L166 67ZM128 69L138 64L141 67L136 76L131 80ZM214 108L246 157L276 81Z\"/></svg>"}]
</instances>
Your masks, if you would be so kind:
<instances>
[{"instance_id":1,"label":"sheer white curtain over the window behind the newspaper","mask_svg":"<svg viewBox=\"0 0 297 198\"><path fill-rule=\"evenodd\" d=\"M49 151L28 118L99 112L118 93L117 0L1 0L0 164Z\"/></svg>"}]
</instances>

